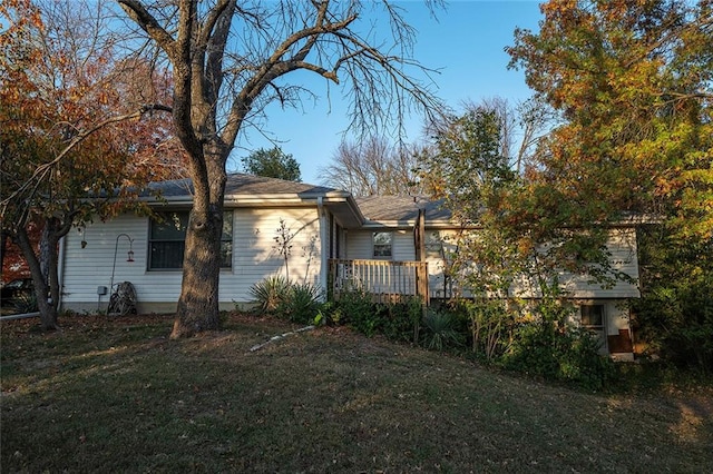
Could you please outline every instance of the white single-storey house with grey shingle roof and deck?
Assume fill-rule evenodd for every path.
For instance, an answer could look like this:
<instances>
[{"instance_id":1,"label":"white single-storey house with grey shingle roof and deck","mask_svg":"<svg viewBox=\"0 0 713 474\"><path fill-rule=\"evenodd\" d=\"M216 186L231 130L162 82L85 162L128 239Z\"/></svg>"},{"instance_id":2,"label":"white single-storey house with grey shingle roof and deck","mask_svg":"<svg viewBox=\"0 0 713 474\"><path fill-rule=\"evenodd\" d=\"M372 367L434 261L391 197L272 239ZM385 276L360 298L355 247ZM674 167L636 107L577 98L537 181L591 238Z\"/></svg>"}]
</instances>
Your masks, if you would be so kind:
<instances>
[{"instance_id":1,"label":"white single-storey house with grey shingle roof and deck","mask_svg":"<svg viewBox=\"0 0 713 474\"><path fill-rule=\"evenodd\" d=\"M140 313L176 309L191 182L166 181L156 189L160 199L145 199L162 219L121 215L62 239L62 309L106 310L110 288L121 282L135 287ZM355 199L328 187L234 174L226 185L224 220L224 309L250 304L253 284L287 271L293 280L329 287L334 294L358 283L387 298L448 296L441 246L456 226L438 203ZM291 238L286 264L275 240L281 231ZM609 249L614 265L637 278L635 229L613 229ZM574 277L564 280L580 305L582 322L602 334L611 352L631 353L625 302L639 296L636 285L619 282L605 289Z\"/></svg>"}]
</instances>

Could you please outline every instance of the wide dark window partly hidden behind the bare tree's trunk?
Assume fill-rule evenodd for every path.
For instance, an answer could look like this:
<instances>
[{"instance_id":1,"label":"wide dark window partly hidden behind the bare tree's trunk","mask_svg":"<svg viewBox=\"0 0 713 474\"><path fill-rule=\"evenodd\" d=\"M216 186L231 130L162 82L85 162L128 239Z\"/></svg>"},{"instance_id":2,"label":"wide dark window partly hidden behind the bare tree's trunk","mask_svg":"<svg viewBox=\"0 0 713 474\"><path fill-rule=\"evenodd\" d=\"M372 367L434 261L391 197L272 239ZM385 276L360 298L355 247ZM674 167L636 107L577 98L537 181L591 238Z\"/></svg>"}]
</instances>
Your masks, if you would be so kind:
<instances>
[{"instance_id":1,"label":"wide dark window partly hidden behind the bare tree's trunk","mask_svg":"<svg viewBox=\"0 0 713 474\"><path fill-rule=\"evenodd\" d=\"M150 220L148 269L169 270L183 268L183 254L186 249L186 228L188 211L159 213ZM223 234L221 236L221 267L231 268L233 264L233 213L223 213Z\"/></svg>"}]
</instances>

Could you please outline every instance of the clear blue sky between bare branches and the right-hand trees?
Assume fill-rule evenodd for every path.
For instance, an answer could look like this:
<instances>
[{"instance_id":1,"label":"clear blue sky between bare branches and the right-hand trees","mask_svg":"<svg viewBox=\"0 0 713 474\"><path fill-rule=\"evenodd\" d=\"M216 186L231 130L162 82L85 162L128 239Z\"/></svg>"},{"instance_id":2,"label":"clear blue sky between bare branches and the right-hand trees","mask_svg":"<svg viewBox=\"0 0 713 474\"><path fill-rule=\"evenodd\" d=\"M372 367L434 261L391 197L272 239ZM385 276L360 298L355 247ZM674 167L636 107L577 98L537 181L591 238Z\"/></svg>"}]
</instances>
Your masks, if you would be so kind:
<instances>
[{"instance_id":1,"label":"clear blue sky between bare branches and the right-hand trees","mask_svg":"<svg viewBox=\"0 0 713 474\"><path fill-rule=\"evenodd\" d=\"M512 45L516 27L536 31L541 18L538 1L452 1L446 11L431 18L422 1L403 1L399 6L404 17L418 30L413 56L422 65L439 69L433 76L436 92L450 107L463 101L502 97L515 103L526 99L530 91L522 71L508 70L509 56L504 51ZM319 82L313 89L319 101L305 102L303 110L282 110L271 107L264 131L280 141L280 147L299 162L302 180L322 184L320 168L328 166L346 127L339 91L332 89L330 100L326 88ZM422 121L414 117L409 122L410 141L420 137ZM228 168L236 170L241 158L251 150L272 148L273 144L251 131L242 137L233 151Z\"/></svg>"}]
</instances>

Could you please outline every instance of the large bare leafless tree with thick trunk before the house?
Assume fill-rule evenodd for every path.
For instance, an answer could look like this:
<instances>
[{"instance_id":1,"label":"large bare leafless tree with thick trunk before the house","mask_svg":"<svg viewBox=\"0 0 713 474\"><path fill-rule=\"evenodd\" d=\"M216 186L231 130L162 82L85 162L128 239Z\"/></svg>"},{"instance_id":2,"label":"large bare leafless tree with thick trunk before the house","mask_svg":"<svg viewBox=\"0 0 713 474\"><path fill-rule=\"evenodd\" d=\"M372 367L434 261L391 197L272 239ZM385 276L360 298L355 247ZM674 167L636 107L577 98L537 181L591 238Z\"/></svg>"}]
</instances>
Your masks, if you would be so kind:
<instances>
[{"instance_id":1,"label":"large bare leafless tree with thick trunk before the house","mask_svg":"<svg viewBox=\"0 0 713 474\"><path fill-rule=\"evenodd\" d=\"M218 327L218 276L226 161L244 126L265 106L312 93L303 71L342 85L353 126L398 121L434 101L408 72L414 31L387 1L237 2L117 0L163 50L174 75L173 117L189 157L194 201L183 287L172 337ZM363 21L362 21L363 20ZM373 21L383 28L373 28Z\"/></svg>"}]
</instances>

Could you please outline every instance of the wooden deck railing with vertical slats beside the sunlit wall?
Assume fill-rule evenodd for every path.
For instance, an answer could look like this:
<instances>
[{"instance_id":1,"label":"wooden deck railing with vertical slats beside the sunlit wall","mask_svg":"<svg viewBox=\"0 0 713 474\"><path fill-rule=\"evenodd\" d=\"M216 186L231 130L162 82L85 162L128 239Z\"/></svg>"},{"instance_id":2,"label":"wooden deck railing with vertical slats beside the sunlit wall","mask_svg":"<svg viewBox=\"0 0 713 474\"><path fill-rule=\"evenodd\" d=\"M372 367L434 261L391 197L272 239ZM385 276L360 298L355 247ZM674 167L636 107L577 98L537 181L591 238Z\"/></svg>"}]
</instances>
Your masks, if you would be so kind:
<instances>
[{"instance_id":1,"label":"wooden deck railing with vertical slats beside the sunlit wall","mask_svg":"<svg viewBox=\"0 0 713 474\"><path fill-rule=\"evenodd\" d=\"M343 292L360 289L371 294L375 303L393 303L406 296L416 296L428 305L428 264L330 259L330 289L335 300Z\"/></svg>"}]
</instances>

